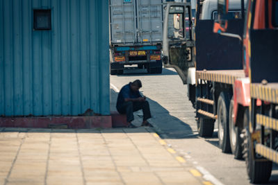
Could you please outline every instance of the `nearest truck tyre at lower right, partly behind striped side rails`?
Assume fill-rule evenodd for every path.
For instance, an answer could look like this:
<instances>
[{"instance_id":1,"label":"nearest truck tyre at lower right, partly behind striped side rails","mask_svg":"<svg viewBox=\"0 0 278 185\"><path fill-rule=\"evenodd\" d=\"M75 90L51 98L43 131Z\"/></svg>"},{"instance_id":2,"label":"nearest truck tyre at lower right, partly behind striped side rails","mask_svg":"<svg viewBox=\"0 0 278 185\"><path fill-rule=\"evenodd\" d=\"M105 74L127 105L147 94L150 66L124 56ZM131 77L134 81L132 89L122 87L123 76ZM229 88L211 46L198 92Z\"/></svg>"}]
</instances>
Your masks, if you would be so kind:
<instances>
[{"instance_id":1,"label":"nearest truck tyre at lower right, partly behind striped side rails","mask_svg":"<svg viewBox=\"0 0 278 185\"><path fill-rule=\"evenodd\" d=\"M247 167L247 174L252 184L261 184L268 182L272 171L272 161L255 161L254 146L251 141L251 134L249 132L249 110L245 109L243 125L243 157Z\"/></svg>"}]
</instances>

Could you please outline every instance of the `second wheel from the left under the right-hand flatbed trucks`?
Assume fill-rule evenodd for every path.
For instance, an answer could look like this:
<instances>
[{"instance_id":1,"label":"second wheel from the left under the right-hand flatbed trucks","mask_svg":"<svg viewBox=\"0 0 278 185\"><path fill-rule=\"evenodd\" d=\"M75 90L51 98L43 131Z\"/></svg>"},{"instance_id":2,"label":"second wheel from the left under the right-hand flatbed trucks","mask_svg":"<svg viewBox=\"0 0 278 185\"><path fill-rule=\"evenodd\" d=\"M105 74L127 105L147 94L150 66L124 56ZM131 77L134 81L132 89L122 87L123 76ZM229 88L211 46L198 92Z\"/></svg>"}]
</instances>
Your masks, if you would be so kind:
<instances>
[{"instance_id":1,"label":"second wheel from the left under the right-hand flatbed trucks","mask_svg":"<svg viewBox=\"0 0 278 185\"><path fill-rule=\"evenodd\" d=\"M231 152L229 141L229 98L227 94L220 93L218 98L218 139L222 152Z\"/></svg>"}]
</instances>

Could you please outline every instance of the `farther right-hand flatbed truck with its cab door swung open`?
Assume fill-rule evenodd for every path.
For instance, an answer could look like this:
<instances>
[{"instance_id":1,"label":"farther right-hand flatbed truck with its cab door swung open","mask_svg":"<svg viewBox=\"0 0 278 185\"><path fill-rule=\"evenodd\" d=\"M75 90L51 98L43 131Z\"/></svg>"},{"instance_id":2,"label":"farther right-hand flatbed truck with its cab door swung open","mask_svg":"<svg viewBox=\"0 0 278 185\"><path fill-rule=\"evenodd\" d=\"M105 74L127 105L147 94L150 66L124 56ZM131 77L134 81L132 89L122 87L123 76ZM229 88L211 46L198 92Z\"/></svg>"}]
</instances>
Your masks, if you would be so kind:
<instances>
[{"instance_id":1,"label":"farther right-hand flatbed truck with its cab door swung open","mask_svg":"<svg viewBox=\"0 0 278 185\"><path fill-rule=\"evenodd\" d=\"M227 30L229 33L242 36L245 12L244 9L241 10L240 3L240 0L231 1ZM177 7L178 3L169 6ZM185 11L183 14L186 13ZM183 84L188 83L188 78L192 78L193 75L195 77L193 88L199 136L212 136L217 121L220 148L223 152L232 151L235 157L240 159L242 157L240 144L242 142L238 139L240 130L237 131L233 125L229 125L229 107L233 103L235 80L245 77L242 62L243 44L236 37L213 33L214 19L218 17L216 0L197 1L194 37L192 39L189 37L187 42L169 37L167 30L170 30L171 24L168 23L167 17L170 17L170 10L165 14L163 62L165 67L174 67L177 70ZM188 45L187 49L183 49L185 43ZM170 51L174 50L176 52L171 54ZM193 60L186 60L188 58ZM192 68L195 68L195 74L188 73ZM242 120L243 116L240 119Z\"/></svg>"}]
</instances>

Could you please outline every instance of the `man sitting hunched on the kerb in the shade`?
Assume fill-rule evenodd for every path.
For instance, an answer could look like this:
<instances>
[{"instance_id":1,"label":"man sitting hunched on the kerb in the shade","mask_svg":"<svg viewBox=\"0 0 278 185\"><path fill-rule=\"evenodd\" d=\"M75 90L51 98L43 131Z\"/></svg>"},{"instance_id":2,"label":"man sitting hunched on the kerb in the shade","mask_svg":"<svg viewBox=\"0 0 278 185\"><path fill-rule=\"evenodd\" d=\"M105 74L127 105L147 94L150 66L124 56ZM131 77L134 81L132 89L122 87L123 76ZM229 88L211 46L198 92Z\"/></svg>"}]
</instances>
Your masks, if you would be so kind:
<instances>
[{"instance_id":1,"label":"man sitting hunched on the kerb in the shade","mask_svg":"<svg viewBox=\"0 0 278 185\"><path fill-rule=\"evenodd\" d=\"M149 103L145 96L141 96L139 89L142 87L140 80L135 80L134 82L129 82L129 84L124 85L117 96L117 111L120 114L126 114L126 121L129 124L127 127L136 127L131 123L134 120L133 112L140 109L143 111L143 121L142 126L152 126L147 121L151 118L151 112L149 110Z\"/></svg>"}]
</instances>

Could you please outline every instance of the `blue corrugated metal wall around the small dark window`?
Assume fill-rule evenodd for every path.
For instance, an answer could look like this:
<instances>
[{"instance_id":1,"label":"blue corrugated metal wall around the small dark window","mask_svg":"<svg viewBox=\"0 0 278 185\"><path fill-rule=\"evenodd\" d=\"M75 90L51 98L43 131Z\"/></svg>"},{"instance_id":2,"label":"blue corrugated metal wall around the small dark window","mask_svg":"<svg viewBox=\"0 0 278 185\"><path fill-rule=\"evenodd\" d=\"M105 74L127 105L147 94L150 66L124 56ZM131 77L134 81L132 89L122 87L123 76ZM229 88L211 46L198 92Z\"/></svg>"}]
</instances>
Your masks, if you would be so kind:
<instances>
[{"instance_id":1,"label":"blue corrugated metal wall around the small dark window","mask_svg":"<svg viewBox=\"0 0 278 185\"><path fill-rule=\"evenodd\" d=\"M108 1L0 0L0 116L110 114L108 53Z\"/></svg>"}]
</instances>

